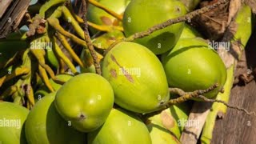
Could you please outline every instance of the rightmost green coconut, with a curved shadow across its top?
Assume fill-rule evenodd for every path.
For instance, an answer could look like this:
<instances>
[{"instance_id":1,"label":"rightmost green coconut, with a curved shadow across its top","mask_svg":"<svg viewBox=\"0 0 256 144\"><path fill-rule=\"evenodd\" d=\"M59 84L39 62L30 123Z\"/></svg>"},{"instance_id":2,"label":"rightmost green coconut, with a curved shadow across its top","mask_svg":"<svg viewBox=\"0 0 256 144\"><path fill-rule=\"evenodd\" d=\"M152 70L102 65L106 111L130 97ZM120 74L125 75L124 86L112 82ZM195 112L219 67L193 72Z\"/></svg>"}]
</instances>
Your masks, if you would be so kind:
<instances>
[{"instance_id":1,"label":"rightmost green coconut, with a curved shadow across its top","mask_svg":"<svg viewBox=\"0 0 256 144\"><path fill-rule=\"evenodd\" d=\"M171 87L186 92L218 88L205 94L213 98L226 82L226 66L218 53L202 38L182 38L169 53L162 55L162 65Z\"/></svg>"}]
</instances>

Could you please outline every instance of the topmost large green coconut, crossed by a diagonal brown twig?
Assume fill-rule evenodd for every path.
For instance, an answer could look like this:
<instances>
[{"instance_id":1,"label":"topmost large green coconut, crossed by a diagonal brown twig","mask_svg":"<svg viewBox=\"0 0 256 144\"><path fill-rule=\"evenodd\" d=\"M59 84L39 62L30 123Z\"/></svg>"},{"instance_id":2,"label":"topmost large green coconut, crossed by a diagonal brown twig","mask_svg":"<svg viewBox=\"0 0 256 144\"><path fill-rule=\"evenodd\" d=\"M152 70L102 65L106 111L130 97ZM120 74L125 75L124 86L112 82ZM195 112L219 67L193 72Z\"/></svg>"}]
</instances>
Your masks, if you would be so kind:
<instances>
[{"instance_id":1,"label":"topmost large green coconut, crossed by a diagonal brown twig","mask_svg":"<svg viewBox=\"0 0 256 144\"><path fill-rule=\"evenodd\" d=\"M126 7L123 16L123 28L126 37L148 30L150 27L186 14L186 6L178 0L136 0ZM154 54L163 54L171 50L182 34L184 22L154 31L149 36L138 38L134 42L146 46Z\"/></svg>"}]
</instances>

